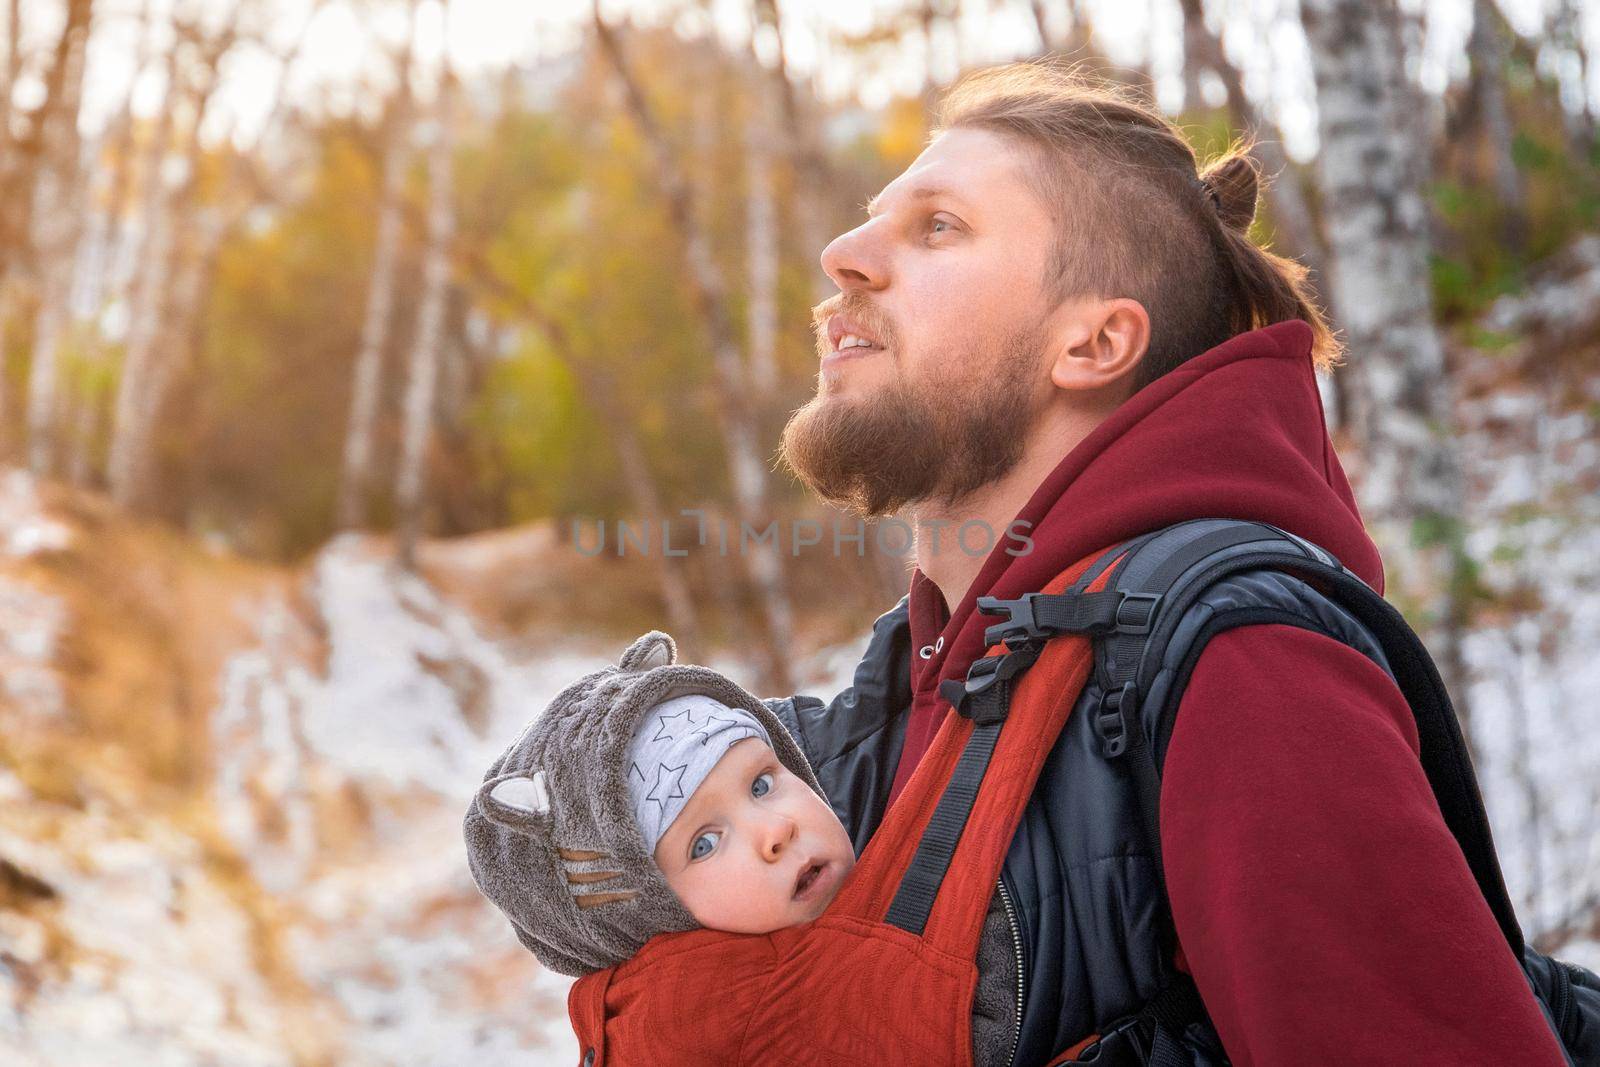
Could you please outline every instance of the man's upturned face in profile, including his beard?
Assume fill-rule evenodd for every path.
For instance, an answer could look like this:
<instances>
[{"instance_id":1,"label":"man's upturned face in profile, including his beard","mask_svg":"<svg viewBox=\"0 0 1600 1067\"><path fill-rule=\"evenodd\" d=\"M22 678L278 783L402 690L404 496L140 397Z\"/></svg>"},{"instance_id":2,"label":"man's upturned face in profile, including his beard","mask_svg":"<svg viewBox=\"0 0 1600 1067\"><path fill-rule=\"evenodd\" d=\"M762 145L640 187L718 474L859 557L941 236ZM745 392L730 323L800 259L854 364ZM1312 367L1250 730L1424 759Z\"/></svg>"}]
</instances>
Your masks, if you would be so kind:
<instances>
[{"instance_id":1,"label":"man's upturned face in profile, including his beard","mask_svg":"<svg viewBox=\"0 0 1600 1067\"><path fill-rule=\"evenodd\" d=\"M867 515L955 502L1010 470L1048 387L1053 221L1026 150L944 133L890 182L822 267L818 395L784 458L824 499Z\"/></svg>"}]
</instances>

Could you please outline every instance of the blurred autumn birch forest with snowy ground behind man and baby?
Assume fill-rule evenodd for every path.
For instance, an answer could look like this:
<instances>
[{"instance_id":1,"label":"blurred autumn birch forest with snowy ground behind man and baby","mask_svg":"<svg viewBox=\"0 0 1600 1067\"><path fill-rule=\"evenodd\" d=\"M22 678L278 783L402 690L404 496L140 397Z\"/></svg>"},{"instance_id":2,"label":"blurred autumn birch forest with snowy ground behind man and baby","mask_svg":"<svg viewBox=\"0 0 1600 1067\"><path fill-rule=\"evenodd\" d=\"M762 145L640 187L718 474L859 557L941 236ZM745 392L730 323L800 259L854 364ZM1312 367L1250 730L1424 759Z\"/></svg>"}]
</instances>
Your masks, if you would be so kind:
<instances>
[{"instance_id":1,"label":"blurred autumn birch forest with snowy ground behind man and baby","mask_svg":"<svg viewBox=\"0 0 1600 1067\"><path fill-rule=\"evenodd\" d=\"M904 558L677 520L854 528L771 462L818 254L944 85L1030 56L1203 154L1256 139L1523 923L1600 963L1600 5L0 18L0 1059L576 1059L467 797L653 625L768 693L848 683ZM661 518L686 555L618 552Z\"/></svg>"}]
</instances>

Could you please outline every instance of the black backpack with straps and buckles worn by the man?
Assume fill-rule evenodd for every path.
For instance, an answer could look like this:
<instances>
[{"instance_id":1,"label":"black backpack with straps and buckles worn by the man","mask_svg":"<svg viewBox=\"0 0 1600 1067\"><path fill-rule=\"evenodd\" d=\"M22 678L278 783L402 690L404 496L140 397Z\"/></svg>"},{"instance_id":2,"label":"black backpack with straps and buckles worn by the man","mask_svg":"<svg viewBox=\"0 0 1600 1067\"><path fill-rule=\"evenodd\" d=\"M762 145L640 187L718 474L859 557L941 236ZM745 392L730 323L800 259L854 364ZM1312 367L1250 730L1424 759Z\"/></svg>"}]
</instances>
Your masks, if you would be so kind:
<instances>
[{"instance_id":1,"label":"black backpack with straps and buckles worn by the man","mask_svg":"<svg viewBox=\"0 0 1600 1067\"><path fill-rule=\"evenodd\" d=\"M1096 733L1106 758L1125 761L1136 779L1144 832L1160 870L1162 763L1195 662L1222 630L1275 621L1261 608L1222 611L1208 619L1186 617L1187 609L1222 579L1259 569L1301 577L1376 638L1416 717L1421 763L1434 797L1501 933L1522 960L1570 1061L1579 1067L1600 1065L1600 976L1536 952L1523 941L1477 774L1434 661L1400 613L1323 549L1266 523L1195 520L1106 552L1062 593L1030 593L1018 600L979 597L981 613L1006 617L986 630L986 645L1005 643L1011 651L974 662L965 683L946 681L946 696L962 713L982 715L982 705L1010 702L1010 681L1032 664L1043 641L1062 633L1090 633L1096 678L1107 694ZM1102 592L1083 592L1106 571L1110 576ZM1184 1064L1187 1057L1178 1035L1203 1013L1194 984L1179 976L1130 1017L1123 1032L1102 1037L1106 1061L1098 1061L1098 1049L1090 1048L1078 1062L1123 1062L1131 1049L1141 1062Z\"/></svg>"}]
</instances>

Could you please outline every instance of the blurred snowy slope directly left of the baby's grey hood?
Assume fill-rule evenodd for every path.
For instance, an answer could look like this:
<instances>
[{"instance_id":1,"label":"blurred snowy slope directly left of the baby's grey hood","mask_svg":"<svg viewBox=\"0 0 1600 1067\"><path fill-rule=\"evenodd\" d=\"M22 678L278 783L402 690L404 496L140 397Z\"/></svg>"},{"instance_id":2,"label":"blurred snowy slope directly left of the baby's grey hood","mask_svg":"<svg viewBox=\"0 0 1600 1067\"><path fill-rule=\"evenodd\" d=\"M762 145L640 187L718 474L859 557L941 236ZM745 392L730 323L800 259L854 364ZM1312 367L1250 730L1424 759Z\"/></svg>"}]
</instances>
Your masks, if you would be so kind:
<instances>
[{"instance_id":1,"label":"blurred snowy slope directly left of the baby's grey hood","mask_svg":"<svg viewBox=\"0 0 1600 1067\"><path fill-rule=\"evenodd\" d=\"M461 816L523 725L624 643L517 661L360 537L318 555L309 598L314 627L283 601L250 608L261 640L226 672L216 805L258 881L294 902L291 957L347 1019L341 1062L576 1062L570 981L478 896ZM832 696L858 653L797 670ZM350 790L354 845L323 829Z\"/></svg>"}]
</instances>

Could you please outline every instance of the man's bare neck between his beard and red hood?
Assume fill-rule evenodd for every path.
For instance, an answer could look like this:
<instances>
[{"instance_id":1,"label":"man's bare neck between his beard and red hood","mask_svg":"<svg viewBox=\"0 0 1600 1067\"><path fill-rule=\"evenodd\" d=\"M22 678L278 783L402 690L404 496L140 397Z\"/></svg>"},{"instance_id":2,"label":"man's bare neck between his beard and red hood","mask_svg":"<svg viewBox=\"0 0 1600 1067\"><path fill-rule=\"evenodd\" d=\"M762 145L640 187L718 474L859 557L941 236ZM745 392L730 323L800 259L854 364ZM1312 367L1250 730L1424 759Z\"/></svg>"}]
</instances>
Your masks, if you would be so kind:
<instances>
[{"instance_id":1,"label":"man's bare neck between his beard and red hood","mask_svg":"<svg viewBox=\"0 0 1600 1067\"><path fill-rule=\"evenodd\" d=\"M907 518L917 531L917 569L933 579L950 611L973 592L973 579L989 558L989 552L979 550L984 542L989 541L990 547L1008 544L1006 528L1011 520L1062 458L1088 437L1102 418L1078 414L1042 421L1029 434L1030 440L1022 458L1005 477L970 493L954 506L925 501L907 509ZM960 530L963 523L974 520L986 525L968 531L970 553L962 545Z\"/></svg>"}]
</instances>

